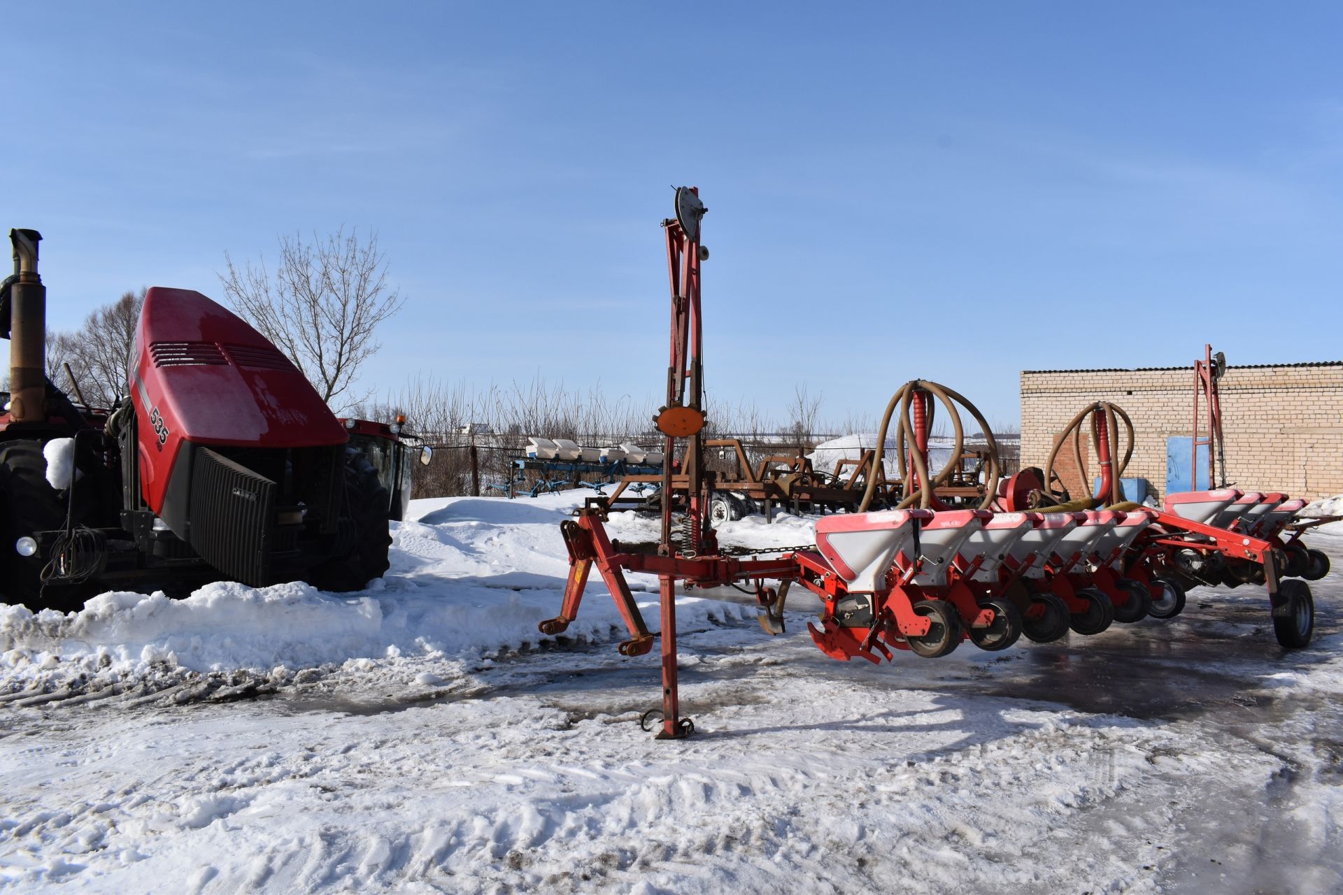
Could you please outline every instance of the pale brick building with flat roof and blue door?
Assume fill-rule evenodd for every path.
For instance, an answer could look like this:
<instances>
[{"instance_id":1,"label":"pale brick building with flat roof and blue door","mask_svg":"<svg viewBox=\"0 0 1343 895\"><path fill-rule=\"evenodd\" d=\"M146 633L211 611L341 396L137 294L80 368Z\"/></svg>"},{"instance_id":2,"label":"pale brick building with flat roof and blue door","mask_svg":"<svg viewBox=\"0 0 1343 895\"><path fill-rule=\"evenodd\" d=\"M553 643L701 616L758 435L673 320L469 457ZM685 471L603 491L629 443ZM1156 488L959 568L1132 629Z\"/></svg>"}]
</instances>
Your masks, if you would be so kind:
<instances>
[{"instance_id":1,"label":"pale brick building with flat roof and blue door","mask_svg":"<svg viewBox=\"0 0 1343 895\"><path fill-rule=\"evenodd\" d=\"M1311 499L1343 494L1343 361L1229 366L1219 390L1229 482L1241 490ZM1163 496L1168 439L1191 435L1193 365L1022 372L1022 466L1044 467L1058 433L1093 401L1111 401L1128 412L1136 444L1125 476L1147 479L1156 496ZM1206 428L1206 412L1201 427ZM1189 447L1183 451L1187 456ZM1065 454L1070 451L1064 448L1060 458ZM1088 467L1095 478L1095 450ZM1203 483L1206 466L1201 470ZM1062 475L1065 482L1078 478L1070 468Z\"/></svg>"}]
</instances>

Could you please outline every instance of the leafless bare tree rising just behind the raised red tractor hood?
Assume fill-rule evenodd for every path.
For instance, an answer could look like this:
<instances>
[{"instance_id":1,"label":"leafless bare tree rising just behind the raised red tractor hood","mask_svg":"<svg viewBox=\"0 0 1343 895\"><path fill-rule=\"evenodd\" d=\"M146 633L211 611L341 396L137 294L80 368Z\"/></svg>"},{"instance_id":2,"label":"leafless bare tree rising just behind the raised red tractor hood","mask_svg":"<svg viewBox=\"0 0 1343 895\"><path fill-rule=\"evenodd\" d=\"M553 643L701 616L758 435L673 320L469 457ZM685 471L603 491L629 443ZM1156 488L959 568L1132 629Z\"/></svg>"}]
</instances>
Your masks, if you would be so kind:
<instances>
[{"instance_id":1,"label":"leafless bare tree rising just behind the raised red tractor hood","mask_svg":"<svg viewBox=\"0 0 1343 895\"><path fill-rule=\"evenodd\" d=\"M400 310L404 299L387 283L387 259L377 233L360 242L341 227L325 239L313 233L279 238L274 276L265 259L239 271L224 252L224 294L242 317L275 344L302 370L322 400L348 407L359 368L377 349L377 325ZM367 397L367 396L363 396Z\"/></svg>"}]
</instances>

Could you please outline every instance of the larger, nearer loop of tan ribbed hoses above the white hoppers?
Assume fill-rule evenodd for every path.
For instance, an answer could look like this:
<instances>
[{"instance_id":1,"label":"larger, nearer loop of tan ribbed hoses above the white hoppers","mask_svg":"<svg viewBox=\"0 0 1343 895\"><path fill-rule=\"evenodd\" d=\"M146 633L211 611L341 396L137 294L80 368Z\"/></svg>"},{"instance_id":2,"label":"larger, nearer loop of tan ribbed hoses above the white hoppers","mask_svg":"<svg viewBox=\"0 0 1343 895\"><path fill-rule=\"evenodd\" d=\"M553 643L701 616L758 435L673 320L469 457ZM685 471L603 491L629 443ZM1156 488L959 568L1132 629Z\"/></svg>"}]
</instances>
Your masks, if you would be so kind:
<instances>
[{"instance_id":1,"label":"larger, nearer loop of tan ribbed hoses above the white hoppers","mask_svg":"<svg viewBox=\"0 0 1343 895\"><path fill-rule=\"evenodd\" d=\"M947 466L935 476L928 475L928 458L920 450L907 450L907 443L913 445L916 441L915 423L911 416L911 404L919 392L927 392L937 399L943 407L947 408L947 416L951 417L952 429L956 433L956 441L951 452L951 459ZM921 397L919 400L923 400ZM920 509L931 509L935 502L935 491L943 482L951 478L951 474L956 471L960 466L960 452L966 445L966 432L960 424L960 413L956 411L956 404L964 407L975 421L979 423L980 432L984 433L984 441L988 445L988 483L984 492L984 499L980 502L979 509L984 510L994 501L994 495L998 491L998 479L1002 476L1002 466L998 462L998 441L994 440L994 433L988 428L988 423L984 420L979 409L967 401L960 393L947 388L945 385L939 385L937 382L928 382L925 380L909 380L900 386L894 394L890 396L890 403L886 404L886 412L881 417L881 432L877 436L877 456L872 464L872 474L868 476L868 488L862 494L862 503L858 505L858 513L866 513L868 507L872 505L872 498L877 491L877 470L881 468L882 458L886 451L886 432L890 428L890 417L896 412L896 407L900 407L900 420L896 424L896 447L900 451L901 463L901 480L905 483L905 496L900 503L896 505L897 510L904 510L905 507L919 505ZM929 408L931 411L932 408ZM931 423L932 413L928 413L928 421ZM915 478L919 480L919 487L909 490Z\"/></svg>"}]
</instances>

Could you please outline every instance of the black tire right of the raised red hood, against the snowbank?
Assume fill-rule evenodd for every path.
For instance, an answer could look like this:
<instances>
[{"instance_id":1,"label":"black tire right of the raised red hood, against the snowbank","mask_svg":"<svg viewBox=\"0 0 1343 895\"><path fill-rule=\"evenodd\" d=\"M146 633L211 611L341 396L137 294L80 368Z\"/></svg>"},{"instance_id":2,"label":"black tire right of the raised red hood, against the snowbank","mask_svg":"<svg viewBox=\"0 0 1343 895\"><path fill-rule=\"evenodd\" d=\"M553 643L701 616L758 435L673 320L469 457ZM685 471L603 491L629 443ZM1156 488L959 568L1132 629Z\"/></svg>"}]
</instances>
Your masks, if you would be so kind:
<instances>
[{"instance_id":1,"label":"black tire right of the raised red hood, against the snowbank","mask_svg":"<svg viewBox=\"0 0 1343 895\"><path fill-rule=\"evenodd\" d=\"M305 581L321 590L363 590L387 572L387 507L391 498L377 480L377 470L357 451L345 452L345 501L340 518L338 549L332 558L309 569Z\"/></svg>"}]
</instances>

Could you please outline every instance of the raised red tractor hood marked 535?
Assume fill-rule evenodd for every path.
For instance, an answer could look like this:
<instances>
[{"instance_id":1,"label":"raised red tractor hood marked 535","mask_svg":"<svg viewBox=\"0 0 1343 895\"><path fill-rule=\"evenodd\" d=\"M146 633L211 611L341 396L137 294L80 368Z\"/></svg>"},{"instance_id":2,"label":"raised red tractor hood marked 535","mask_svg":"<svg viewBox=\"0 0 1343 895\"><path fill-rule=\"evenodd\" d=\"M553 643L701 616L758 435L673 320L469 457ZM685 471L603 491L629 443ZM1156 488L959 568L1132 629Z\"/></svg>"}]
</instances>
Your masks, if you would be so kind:
<instances>
[{"instance_id":1,"label":"raised red tractor hood marked 535","mask_svg":"<svg viewBox=\"0 0 1343 895\"><path fill-rule=\"evenodd\" d=\"M136 330L130 388L142 441L172 456L181 439L239 447L346 441L298 368L200 293L153 287Z\"/></svg>"}]
</instances>

